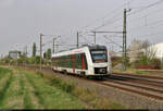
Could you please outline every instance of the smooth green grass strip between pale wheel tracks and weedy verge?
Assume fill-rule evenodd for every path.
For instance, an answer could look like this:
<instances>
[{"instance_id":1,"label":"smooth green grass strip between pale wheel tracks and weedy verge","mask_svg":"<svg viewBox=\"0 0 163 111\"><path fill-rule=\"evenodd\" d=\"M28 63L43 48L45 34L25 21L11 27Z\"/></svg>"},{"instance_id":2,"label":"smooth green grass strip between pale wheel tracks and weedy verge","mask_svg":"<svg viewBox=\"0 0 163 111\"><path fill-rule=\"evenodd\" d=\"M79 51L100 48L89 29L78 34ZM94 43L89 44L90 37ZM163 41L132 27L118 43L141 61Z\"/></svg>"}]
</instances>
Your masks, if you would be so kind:
<instances>
[{"instance_id":1,"label":"smooth green grass strip between pale wheel tracks and weedy verge","mask_svg":"<svg viewBox=\"0 0 163 111\"><path fill-rule=\"evenodd\" d=\"M85 106L74 96L47 84L45 78L34 73L27 73L26 77L34 86L35 95L46 109L84 109Z\"/></svg>"}]
</instances>

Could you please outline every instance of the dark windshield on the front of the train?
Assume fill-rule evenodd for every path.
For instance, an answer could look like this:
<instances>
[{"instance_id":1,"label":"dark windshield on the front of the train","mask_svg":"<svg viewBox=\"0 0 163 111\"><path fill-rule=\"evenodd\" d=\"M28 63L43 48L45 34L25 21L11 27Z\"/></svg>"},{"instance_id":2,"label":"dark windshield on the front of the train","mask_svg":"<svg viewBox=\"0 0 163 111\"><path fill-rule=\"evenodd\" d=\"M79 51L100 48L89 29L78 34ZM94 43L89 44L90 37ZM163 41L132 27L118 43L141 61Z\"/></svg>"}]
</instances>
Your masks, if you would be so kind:
<instances>
[{"instance_id":1,"label":"dark windshield on the front of the train","mask_svg":"<svg viewBox=\"0 0 163 111\"><path fill-rule=\"evenodd\" d=\"M93 62L108 62L105 50L91 51L91 58Z\"/></svg>"}]
</instances>

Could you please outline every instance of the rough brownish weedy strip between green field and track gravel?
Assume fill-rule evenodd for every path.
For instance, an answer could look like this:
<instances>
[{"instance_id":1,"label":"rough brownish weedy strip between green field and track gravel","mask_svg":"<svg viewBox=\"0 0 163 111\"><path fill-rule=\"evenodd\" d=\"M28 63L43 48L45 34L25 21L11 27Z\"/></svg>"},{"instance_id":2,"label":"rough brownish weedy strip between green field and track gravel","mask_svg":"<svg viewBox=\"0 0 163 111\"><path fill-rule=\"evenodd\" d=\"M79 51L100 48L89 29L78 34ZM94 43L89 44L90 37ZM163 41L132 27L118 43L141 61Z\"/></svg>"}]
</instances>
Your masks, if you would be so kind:
<instances>
[{"instance_id":1,"label":"rough brownish weedy strip between green field and track gravel","mask_svg":"<svg viewBox=\"0 0 163 111\"><path fill-rule=\"evenodd\" d=\"M99 98L96 90L90 90L89 88L83 88L79 87L74 82L64 82L59 77L48 77L40 72L37 73L40 76L43 76L45 78L48 78L48 83L54 87L58 87L62 89L63 91L66 91L73 96L76 96L79 100L84 101L88 109L125 109L120 103L111 102L108 99Z\"/></svg>"}]
</instances>

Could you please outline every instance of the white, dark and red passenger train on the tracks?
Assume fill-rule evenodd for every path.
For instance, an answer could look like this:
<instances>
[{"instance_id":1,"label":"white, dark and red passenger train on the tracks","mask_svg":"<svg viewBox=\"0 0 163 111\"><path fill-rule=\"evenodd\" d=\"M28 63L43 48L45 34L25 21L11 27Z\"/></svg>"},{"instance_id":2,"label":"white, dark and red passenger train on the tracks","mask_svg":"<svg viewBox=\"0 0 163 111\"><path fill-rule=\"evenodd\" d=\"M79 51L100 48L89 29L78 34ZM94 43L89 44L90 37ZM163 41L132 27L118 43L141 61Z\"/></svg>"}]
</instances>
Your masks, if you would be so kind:
<instances>
[{"instance_id":1,"label":"white, dark and red passenger train on the tracks","mask_svg":"<svg viewBox=\"0 0 163 111\"><path fill-rule=\"evenodd\" d=\"M80 76L103 77L112 73L105 46L83 46L52 54L52 70Z\"/></svg>"}]
</instances>

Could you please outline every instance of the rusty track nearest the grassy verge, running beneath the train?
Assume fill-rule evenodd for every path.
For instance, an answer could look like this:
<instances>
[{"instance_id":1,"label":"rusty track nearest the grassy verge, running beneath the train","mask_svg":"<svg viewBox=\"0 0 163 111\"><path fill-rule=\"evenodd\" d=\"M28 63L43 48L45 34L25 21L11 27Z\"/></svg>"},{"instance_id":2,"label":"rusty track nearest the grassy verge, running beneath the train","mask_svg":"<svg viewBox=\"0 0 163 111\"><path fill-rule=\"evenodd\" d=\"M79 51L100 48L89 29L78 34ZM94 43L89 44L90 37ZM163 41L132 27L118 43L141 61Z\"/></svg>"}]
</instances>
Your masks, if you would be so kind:
<instances>
[{"instance_id":1,"label":"rusty track nearest the grassy verge, running beneath the train","mask_svg":"<svg viewBox=\"0 0 163 111\"><path fill-rule=\"evenodd\" d=\"M100 85L103 85L103 86L106 86L106 87L112 87L112 88L121 89L121 90L124 90L124 91L128 91L128 92L133 92L133 94L137 94L137 95L140 95L140 96L145 96L145 97L148 97L148 98L152 98L152 99L156 99L156 100L163 101L163 97L159 96L160 94L163 94L163 89L155 89L155 88L151 88L151 87L143 87L143 86L138 86L138 85L130 85L129 83L121 83L121 82L117 82L117 81L115 82L113 79L111 82L109 79L103 79L103 81L95 81L93 79L92 81L92 79L83 78L83 77L78 77L78 76L72 76L72 77L84 79L84 81L87 81L87 82L92 82L95 84L100 84ZM129 81L129 82L131 82L131 81ZM117 85L113 85L112 83L113 84L117 84ZM145 83L142 83L142 82L141 82L141 84L145 85ZM163 85L160 85L160 84L159 85L158 84L154 85L154 84L150 84L150 83L146 83L146 84L153 85L153 86L159 87L159 88L163 87ZM123 87L123 86L125 86L125 87ZM129 87L127 88L126 86L129 86ZM130 87L137 88L137 89L131 89ZM140 91L138 89L143 89L143 90L146 90L146 92L145 91ZM151 91L154 91L158 95L153 95L153 94L151 94Z\"/></svg>"}]
</instances>

